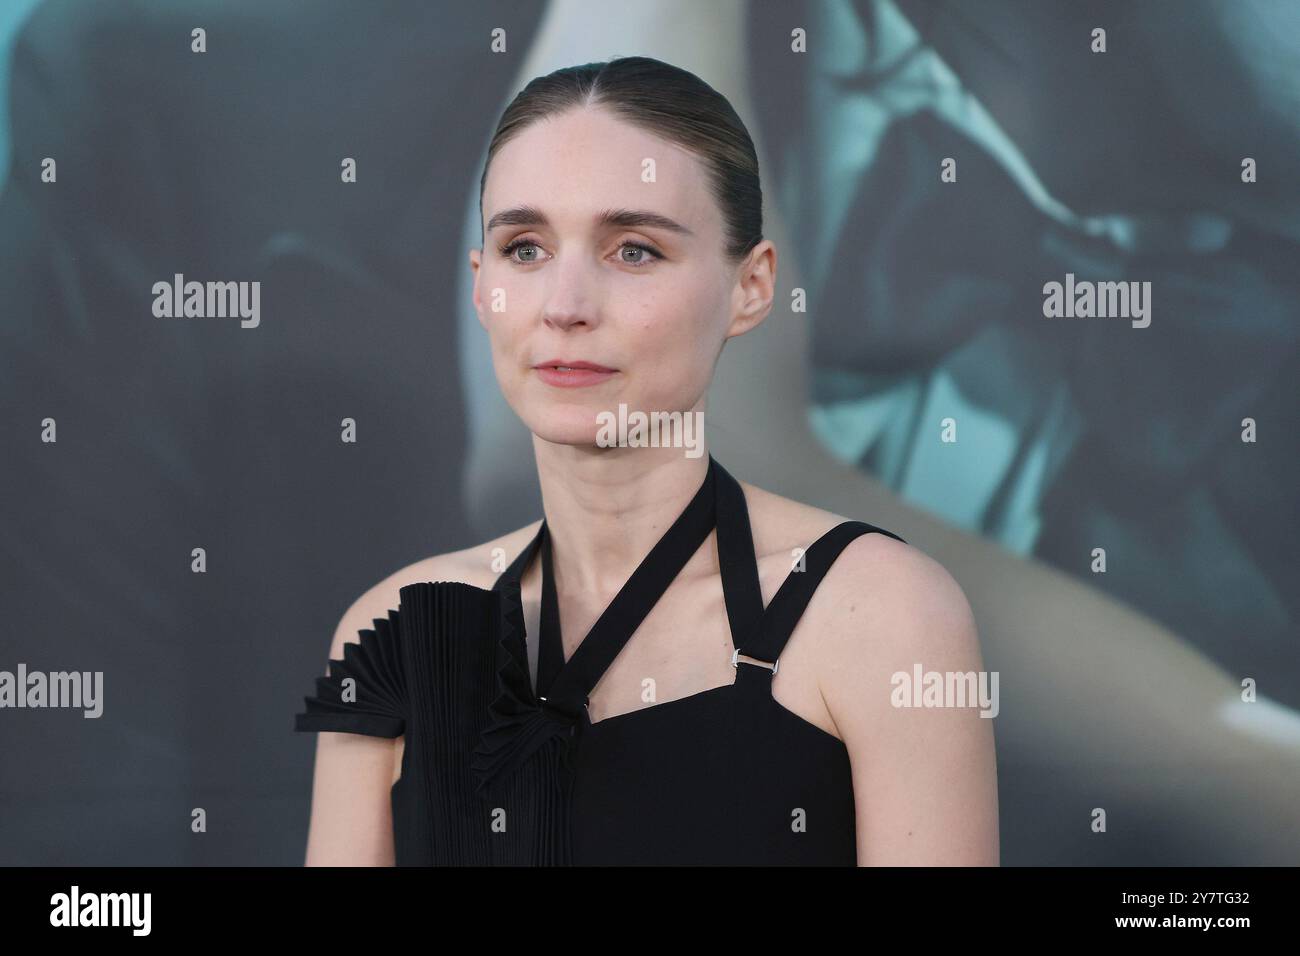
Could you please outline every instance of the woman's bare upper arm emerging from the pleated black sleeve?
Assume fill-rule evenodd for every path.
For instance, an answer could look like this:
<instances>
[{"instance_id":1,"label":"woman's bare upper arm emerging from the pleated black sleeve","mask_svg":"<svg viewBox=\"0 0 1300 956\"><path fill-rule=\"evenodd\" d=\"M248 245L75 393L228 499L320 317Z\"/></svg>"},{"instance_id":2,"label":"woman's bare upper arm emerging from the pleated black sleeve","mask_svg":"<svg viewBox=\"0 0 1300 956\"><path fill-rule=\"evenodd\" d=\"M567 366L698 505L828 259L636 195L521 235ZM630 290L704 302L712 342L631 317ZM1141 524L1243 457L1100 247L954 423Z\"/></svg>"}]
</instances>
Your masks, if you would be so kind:
<instances>
[{"instance_id":1,"label":"woman's bare upper arm emerging from the pleated black sleeve","mask_svg":"<svg viewBox=\"0 0 1300 956\"><path fill-rule=\"evenodd\" d=\"M330 644L330 659L343 645L396 607L386 583L363 594L343 615ZM390 601L393 604L390 604ZM404 737L324 731L317 735L307 866L393 866L391 787Z\"/></svg>"}]
</instances>

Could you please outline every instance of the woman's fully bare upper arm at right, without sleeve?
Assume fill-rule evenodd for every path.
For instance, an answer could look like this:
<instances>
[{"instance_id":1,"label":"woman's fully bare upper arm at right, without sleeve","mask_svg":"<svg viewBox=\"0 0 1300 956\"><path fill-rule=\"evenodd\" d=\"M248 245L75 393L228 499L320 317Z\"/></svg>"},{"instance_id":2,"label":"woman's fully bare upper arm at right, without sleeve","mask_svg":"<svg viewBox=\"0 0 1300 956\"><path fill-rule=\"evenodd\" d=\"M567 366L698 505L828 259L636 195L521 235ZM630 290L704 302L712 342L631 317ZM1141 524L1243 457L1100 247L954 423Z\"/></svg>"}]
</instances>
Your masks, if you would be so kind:
<instances>
[{"instance_id":1,"label":"woman's fully bare upper arm at right, without sleeve","mask_svg":"<svg viewBox=\"0 0 1300 956\"><path fill-rule=\"evenodd\" d=\"M983 671L970 605L923 551L864 538L876 540L850 545L837 575L838 623L819 682L853 765L858 864L996 866L997 684ZM974 693L922 697L927 675Z\"/></svg>"}]
</instances>

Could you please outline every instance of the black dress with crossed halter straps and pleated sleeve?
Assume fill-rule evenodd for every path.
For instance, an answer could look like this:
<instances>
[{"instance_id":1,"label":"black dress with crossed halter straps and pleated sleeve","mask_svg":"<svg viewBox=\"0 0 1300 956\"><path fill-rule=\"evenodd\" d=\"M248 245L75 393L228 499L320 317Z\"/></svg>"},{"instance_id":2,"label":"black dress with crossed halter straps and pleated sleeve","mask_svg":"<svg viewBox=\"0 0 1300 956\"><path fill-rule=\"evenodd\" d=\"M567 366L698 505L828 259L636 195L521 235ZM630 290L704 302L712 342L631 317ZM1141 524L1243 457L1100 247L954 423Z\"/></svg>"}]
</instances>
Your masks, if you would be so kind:
<instances>
[{"instance_id":1,"label":"black dress with crossed halter straps and pleated sleeve","mask_svg":"<svg viewBox=\"0 0 1300 956\"><path fill-rule=\"evenodd\" d=\"M715 527L734 683L592 723L588 695ZM764 609L744 493L710 457L567 662L543 520L491 591L403 587L399 607L317 678L295 730L406 735L391 792L399 866L853 865L848 749L779 704L771 682L818 584L868 532L902 541L844 522ZM519 583L538 551L534 691Z\"/></svg>"}]
</instances>

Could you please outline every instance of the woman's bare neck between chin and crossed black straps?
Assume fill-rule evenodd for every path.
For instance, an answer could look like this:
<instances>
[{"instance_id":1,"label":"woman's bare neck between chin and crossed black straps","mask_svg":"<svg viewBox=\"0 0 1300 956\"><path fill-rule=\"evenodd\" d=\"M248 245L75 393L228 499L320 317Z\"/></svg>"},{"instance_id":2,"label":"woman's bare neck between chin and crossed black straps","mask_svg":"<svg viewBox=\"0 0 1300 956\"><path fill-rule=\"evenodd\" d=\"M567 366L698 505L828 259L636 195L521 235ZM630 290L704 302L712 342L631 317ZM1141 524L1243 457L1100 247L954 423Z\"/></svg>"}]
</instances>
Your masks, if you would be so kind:
<instances>
[{"instance_id":1,"label":"woman's bare neck between chin and crossed black straps","mask_svg":"<svg viewBox=\"0 0 1300 956\"><path fill-rule=\"evenodd\" d=\"M612 597L694 498L708 472L701 442L592 449L533 437L556 587Z\"/></svg>"}]
</instances>

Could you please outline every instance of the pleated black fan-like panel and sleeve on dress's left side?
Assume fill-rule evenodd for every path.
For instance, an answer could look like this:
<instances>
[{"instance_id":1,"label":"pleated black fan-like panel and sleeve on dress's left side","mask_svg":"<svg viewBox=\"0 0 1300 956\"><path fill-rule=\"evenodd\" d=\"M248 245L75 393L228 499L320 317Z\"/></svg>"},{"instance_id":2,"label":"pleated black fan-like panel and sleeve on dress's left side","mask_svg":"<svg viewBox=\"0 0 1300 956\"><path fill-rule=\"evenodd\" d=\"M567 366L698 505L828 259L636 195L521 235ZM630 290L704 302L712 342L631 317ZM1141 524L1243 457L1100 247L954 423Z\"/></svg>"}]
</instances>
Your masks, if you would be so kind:
<instances>
[{"instance_id":1,"label":"pleated black fan-like panel and sleeve on dress's left side","mask_svg":"<svg viewBox=\"0 0 1300 956\"><path fill-rule=\"evenodd\" d=\"M316 679L295 730L404 735L398 866L567 864L569 718L533 691L517 580L398 593Z\"/></svg>"}]
</instances>

